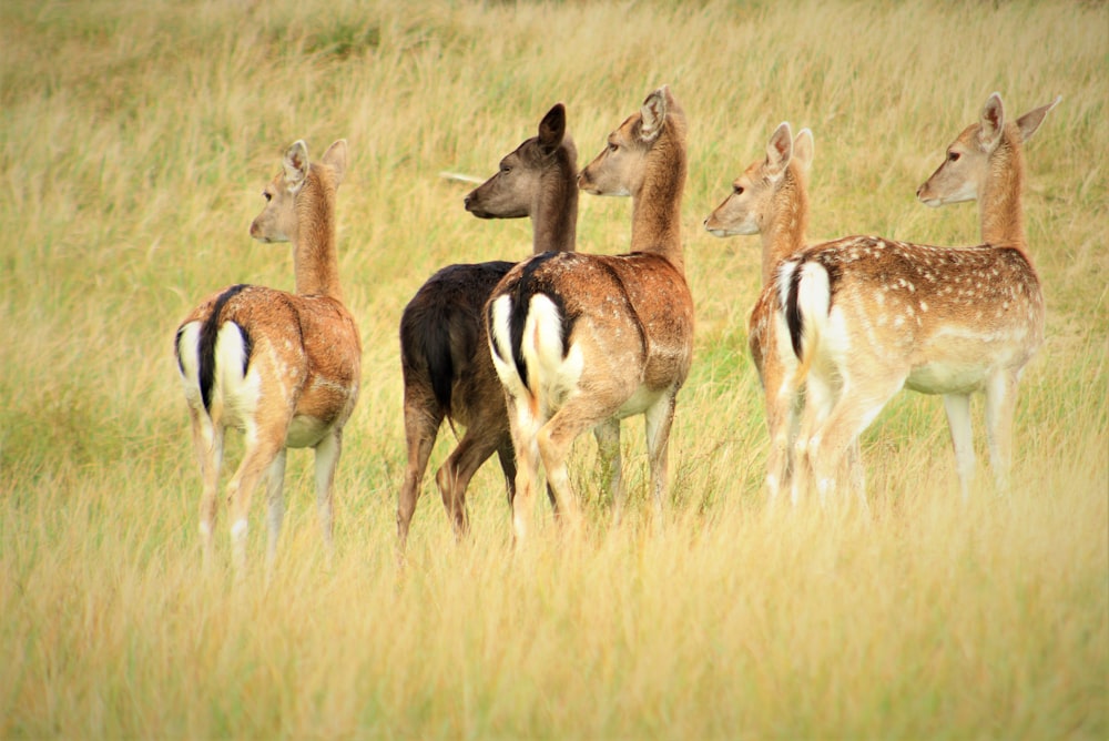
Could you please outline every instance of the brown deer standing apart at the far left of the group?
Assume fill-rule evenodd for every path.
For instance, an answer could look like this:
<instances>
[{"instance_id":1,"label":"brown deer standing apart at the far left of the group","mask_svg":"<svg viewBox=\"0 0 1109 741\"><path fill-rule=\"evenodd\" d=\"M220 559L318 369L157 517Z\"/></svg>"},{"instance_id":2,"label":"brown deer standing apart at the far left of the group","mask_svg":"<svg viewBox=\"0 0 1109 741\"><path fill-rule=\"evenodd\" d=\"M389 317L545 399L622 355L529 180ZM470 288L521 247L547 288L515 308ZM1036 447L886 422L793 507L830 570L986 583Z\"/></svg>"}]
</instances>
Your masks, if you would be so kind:
<instances>
[{"instance_id":1,"label":"brown deer standing apart at the far left of the group","mask_svg":"<svg viewBox=\"0 0 1109 741\"><path fill-rule=\"evenodd\" d=\"M303 140L282 158L263 191L265 206L251 236L293 247L295 292L258 285L223 288L177 327L174 354L192 425L203 489L200 532L205 567L212 560L216 489L228 428L243 433L242 461L227 484L231 541L237 573L246 566L251 497L267 477L272 572L285 511L288 448L315 451L316 504L326 552L332 551L335 470L343 428L358 400L362 342L344 305L335 247L335 200L347 169L347 143L333 143L318 162Z\"/></svg>"}]
</instances>

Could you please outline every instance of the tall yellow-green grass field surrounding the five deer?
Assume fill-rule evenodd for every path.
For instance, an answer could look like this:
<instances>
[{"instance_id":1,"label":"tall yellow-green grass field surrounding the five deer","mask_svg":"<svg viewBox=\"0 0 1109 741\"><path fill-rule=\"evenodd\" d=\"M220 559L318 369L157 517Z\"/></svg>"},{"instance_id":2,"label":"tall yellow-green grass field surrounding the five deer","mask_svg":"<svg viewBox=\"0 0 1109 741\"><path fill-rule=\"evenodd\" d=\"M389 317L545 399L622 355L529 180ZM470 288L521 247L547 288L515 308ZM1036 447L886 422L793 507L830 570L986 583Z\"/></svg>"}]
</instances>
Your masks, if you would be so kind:
<instances>
[{"instance_id":1,"label":"tall yellow-green grass field surrounding the five deer","mask_svg":"<svg viewBox=\"0 0 1109 741\"><path fill-rule=\"evenodd\" d=\"M583 166L663 82L690 122L698 321L667 521L630 420L619 529L583 438L580 538L542 505L513 552L490 464L461 544L428 476L401 569L400 312L442 265L530 248L438 173L491 174L557 101ZM963 505L940 400L906 393L863 439L869 517L767 511L759 242L702 220L788 120L815 134L814 237L974 243L973 205L914 193L995 90L1010 115L1062 95L1026 149L1049 314L1011 493L983 466ZM1107 91L1097 2L0 4L0 738L1105 739ZM171 341L220 286L292 288L247 226L285 146L340 136L364 377L335 557L294 453L277 573L257 496L236 589L225 510L199 568ZM629 226L627 200L582 195L582 251Z\"/></svg>"}]
</instances>

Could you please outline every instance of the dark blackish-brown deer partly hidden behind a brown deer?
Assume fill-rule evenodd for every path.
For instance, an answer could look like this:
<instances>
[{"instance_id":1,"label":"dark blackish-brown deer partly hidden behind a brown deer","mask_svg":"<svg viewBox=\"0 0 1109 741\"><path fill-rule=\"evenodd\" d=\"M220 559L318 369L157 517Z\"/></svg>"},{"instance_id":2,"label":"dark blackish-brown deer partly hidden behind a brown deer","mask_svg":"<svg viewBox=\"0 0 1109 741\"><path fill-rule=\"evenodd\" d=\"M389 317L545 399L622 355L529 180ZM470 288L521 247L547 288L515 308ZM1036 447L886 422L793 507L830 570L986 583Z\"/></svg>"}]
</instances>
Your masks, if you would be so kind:
<instances>
[{"instance_id":1,"label":"dark blackish-brown deer partly hidden behind a brown deer","mask_svg":"<svg viewBox=\"0 0 1109 741\"><path fill-rule=\"evenodd\" d=\"M578 150L567 132L566 106L556 104L536 136L505 155L497 172L464 199L479 219L531 220L532 254L573 252L578 223ZM508 500L516 491L516 456L505 394L489 357L482 311L494 287L515 265L497 261L438 271L405 307L400 319L405 439L408 464L397 500L403 551L424 473L444 419L466 426L436 473L436 485L456 535L468 529L466 490L497 453ZM611 486L620 486L619 427L597 429ZM557 511L557 510L556 510Z\"/></svg>"}]
</instances>

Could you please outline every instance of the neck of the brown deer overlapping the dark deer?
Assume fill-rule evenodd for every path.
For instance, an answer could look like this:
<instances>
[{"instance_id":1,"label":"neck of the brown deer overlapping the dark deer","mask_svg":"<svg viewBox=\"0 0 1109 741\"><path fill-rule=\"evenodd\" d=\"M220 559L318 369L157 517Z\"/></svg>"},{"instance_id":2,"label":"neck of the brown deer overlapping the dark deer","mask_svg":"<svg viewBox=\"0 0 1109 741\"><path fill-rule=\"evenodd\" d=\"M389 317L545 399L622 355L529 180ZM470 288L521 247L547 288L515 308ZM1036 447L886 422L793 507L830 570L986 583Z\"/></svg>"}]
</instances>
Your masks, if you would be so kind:
<instances>
[{"instance_id":1,"label":"neck of the brown deer overlapping the dark deer","mask_svg":"<svg viewBox=\"0 0 1109 741\"><path fill-rule=\"evenodd\" d=\"M643 186L632 196L631 251L665 257L685 274L682 255L682 191L685 189L685 148L659 142L647 162Z\"/></svg>"}]
</instances>

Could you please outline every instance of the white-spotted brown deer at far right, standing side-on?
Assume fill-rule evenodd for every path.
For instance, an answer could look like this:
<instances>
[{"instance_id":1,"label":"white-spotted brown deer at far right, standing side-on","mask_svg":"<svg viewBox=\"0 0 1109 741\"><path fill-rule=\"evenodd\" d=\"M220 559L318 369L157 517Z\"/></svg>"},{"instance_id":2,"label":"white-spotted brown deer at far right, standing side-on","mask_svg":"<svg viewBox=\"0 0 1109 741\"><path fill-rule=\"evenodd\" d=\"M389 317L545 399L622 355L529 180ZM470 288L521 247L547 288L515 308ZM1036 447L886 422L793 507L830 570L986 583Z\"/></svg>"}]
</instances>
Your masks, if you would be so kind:
<instances>
[{"instance_id":1,"label":"white-spotted brown deer at far right, standing side-on","mask_svg":"<svg viewBox=\"0 0 1109 741\"><path fill-rule=\"evenodd\" d=\"M1017 387L1044 341L1020 203L1022 145L1058 100L1009 122L991 94L918 189L933 206L978 200L983 244L851 236L782 264L779 343L792 346L793 383L806 394L795 450L804 476L794 485L811 478L822 500L833 494L845 450L905 387L943 396L964 501L976 465L970 395L984 394L995 485L1008 490Z\"/></svg>"}]
</instances>

